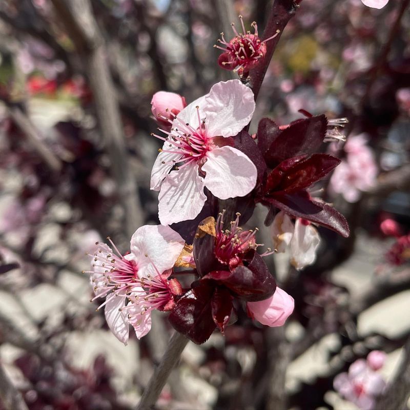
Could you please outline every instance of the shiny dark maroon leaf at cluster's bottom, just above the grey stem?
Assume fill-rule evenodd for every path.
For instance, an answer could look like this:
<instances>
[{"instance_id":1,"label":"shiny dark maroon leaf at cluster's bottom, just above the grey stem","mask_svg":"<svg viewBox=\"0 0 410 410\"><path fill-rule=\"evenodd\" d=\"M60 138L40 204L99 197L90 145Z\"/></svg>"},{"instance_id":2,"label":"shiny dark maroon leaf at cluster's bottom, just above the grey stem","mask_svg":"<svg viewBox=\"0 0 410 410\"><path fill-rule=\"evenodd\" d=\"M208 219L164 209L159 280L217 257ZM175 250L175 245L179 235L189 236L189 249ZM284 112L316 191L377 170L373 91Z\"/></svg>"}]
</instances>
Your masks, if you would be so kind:
<instances>
[{"instance_id":1,"label":"shiny dark maroon leaf at cluster's bottom, just above the grey stem","mask_svg":"<svg viewBox=\"0 0 410 410\"><path fill-rule=\"evenodd\" d=\"M206 342L216 328L211 301L214 289L205 283L178 300L168 319L174 329L196 344Z\"/></svg>"}]
</instances>

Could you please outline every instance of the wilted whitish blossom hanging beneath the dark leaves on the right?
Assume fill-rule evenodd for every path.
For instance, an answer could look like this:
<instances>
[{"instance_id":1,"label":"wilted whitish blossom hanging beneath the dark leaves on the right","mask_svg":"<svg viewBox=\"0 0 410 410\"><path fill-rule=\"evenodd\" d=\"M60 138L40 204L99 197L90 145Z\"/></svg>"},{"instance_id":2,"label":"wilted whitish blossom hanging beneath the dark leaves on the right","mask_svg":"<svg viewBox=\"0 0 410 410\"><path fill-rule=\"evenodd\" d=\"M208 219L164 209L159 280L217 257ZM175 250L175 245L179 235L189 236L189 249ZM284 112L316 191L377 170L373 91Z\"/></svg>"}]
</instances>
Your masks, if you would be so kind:
<instances>
[{"instance_id":1,"label":"wilted whitish blossom hanging beneath the dark leaves on the right","mask_svg":"<svg viewBox=\"0 0 410 410\"><path fill-rule=\"evenodd\" d=\"M280 211L276 214L271 229L275 250L284 252L290 247L291 264L297 270L314 263L320 237L308 220L296 218L293 224L290 216Z\"/></svg>"}]
</instances>

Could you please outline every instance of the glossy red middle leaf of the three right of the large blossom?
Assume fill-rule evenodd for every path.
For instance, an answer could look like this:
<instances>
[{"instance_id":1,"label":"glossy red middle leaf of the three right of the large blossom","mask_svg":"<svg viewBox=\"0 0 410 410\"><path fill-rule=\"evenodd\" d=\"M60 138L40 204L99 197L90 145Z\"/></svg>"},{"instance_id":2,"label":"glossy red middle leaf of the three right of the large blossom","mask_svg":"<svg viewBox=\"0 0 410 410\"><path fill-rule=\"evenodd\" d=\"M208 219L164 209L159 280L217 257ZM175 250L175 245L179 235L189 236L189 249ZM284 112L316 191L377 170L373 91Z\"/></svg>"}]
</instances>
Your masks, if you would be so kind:
<instances>
[{"instance_id":1,"label":"glossy red middle leaf of the three right of the large blossom","mask_svg":"<svg viewBox=\"0 0 410 410\"><path fill-rule=\"evenodd\" d=\"M339 165L340 159L327 154L313 154L308 159L295 162L286 171L282 171L282 163L268 176L267 189L292 193L310 187L329 174Z\"/></svg>"}]
</instances>

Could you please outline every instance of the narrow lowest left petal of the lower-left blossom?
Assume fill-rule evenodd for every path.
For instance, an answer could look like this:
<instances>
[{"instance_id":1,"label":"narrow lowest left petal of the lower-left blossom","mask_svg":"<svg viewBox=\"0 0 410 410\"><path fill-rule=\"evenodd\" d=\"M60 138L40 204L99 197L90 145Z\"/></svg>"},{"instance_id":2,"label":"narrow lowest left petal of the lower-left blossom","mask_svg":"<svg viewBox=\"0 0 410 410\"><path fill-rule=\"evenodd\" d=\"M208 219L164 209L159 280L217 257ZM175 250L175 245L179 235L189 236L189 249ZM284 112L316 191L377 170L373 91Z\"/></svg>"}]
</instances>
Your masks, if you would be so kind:
<instances>
[{"instance_id":1,"label":"narrow lowest left petal of the lower-left blossom","mask_svg":"<svg viewBox=\"0 0 410 410\"><path fill-rule=\"evenodd\" d=\"M111 293L107 296L107 303L104 309L111 332L120 342L127 345L130 333L128 317L125 312L119 310L125 307L125 299L125 295Z\"/></svg>"}]
</instances>

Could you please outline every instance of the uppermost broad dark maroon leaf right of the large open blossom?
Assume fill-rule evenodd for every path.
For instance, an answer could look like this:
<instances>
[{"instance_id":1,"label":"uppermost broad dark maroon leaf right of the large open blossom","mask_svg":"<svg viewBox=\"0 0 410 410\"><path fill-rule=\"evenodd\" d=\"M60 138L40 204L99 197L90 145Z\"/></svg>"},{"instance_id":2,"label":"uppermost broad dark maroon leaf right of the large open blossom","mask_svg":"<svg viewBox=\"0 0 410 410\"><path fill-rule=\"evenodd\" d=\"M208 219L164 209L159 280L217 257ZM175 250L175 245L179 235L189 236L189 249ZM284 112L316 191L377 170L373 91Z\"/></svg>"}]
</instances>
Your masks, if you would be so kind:
<instances>
[{"instance_id":1,"label":"uppermost broad dark maroon leaf right of the large open blossom","mask_svg":"<svg viewBox=\"0 0 410 410\"><path fill-rule=\"evenodd\" d=\"M269 168L275 168L283 160L318 151L326 135L327 119L322 115L302 118L291 122L278 135L275 132L272 144L263 157ZM262 151L263 152L263 151Z\"/></svg>"}]
</instances>

